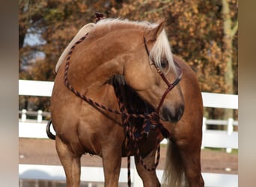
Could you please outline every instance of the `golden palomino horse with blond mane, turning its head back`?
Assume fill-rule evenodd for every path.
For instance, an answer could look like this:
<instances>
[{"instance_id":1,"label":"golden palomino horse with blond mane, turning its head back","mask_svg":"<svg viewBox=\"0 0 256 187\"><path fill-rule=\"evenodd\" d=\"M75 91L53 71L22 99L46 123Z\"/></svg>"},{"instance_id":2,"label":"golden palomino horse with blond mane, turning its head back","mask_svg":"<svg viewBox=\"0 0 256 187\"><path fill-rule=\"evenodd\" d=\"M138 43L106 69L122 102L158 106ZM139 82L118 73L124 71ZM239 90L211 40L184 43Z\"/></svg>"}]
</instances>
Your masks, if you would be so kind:
<instances>
[{"instance_id":1,"label":"golden palomino horse with blond mane, turning its head back","mask_svg":"<svg viewBox=\"0 0 256 187\"><path fill-rule=\"evenodd\" d=\"M162 186L204 186L201 91L189 66L171 54L164 22L85 25L56 72L56 135L51 123L47 134L55 139L67 186L79 186L84 153L101 156L105 186L118 186L121 157L132 155L144 186L160 186L155 155L163 138L169 141Z\"/></svg>"}]
</instances>

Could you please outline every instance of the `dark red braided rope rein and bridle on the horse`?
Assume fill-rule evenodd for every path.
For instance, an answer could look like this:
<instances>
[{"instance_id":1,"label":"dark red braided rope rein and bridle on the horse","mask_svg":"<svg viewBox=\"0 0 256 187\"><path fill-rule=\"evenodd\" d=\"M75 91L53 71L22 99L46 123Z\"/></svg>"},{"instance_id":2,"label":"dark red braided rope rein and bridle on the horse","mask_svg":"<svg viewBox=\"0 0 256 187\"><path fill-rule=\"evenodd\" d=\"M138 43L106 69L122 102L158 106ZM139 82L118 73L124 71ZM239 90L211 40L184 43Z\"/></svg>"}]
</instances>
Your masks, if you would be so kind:
<instances>
[{"instance_id":1,"label":"dark red braided rope rein and bridle on the horse","mask_svg":"<svg viewBox=\"0 0 256 187\"><path fill-rule=\"evenodd\" d=\"M143 158L140 154L140 150L138 148L138 141L141 141L142 138L144 138L144 134L146 132L146 135L148 135L149 130L150 129L159 129L160 132L162 132L162 135L165 138L169 137L169 132L167 129L165 129L165 127L162 125L162 123L160 123L160 119L159 119L159 109L162 106L162 103L164 102L165 97L167 96L168 92L171 91L175 85L177 85L180 82L182 73L180 73L180 76L177 77L177 79L173 82L170 83L168 82L168 79L165 77L164 73L162 73L162 71L159 69L159 67L156 67L156 64L154 63L154 61L151 59L151 61L153 61L154 67L156 67L156 71L157 73L159 73L159 75L162 77L163 81L166 83L166 85L168 85L167 90L165 91L165 93L162 95L162 98L160 99L159 105L156 108L156 111L151 112L150 114L131 114L127 112L127 108L125 108L124 106L124 102L122 102L122 98L121 98L121 93L120 91L118 91L117 89L115 89L116 95L118 97L118 103L119 103L119 108L120 111L114 110L112 108L107 107L106 105L101 105L98 102L94 102L94 100L88 98L87 96L83 95L82 93L80 93L79 91L76 90L76 88L73 88L72 85L70 85L70 82L68 80L67 74L68 74L68 70L70 67L70 59L71 59L71 55L73 53L73 49L75 49L75 47L81 43L83 40L86 39L86 37L88 36L88 33L85 34L85 36L81 37L78 41L76 41L76 43L71 47L70 52L68 52L67 54L67 60L66 60L66 64L65 64L65 71L64 71L64 85L66 85L66 87L72 91L74 94L76 94L76 96L79 96L81 99L83 99L85 102L88 102L88 104L94 106L95 108L98 109L104 109L106 111L110 111L112 113L115 114L120 114L122 117L122 121L123 121L123 125L124 125L124 130L126 132L127 135L127 139L128 139L128 145L127 147L130 147L130 142L132 141L134 143L134 147L135 147L135 152L137 154L137 156L139 156L139 161L141 162L141 165L143 165L143 167L147 170L147 171L153 171L156 169L157 165L159 164L159 157L160 157L160 138L159 135L157 136L157 147L156 147L156 162L155 165L152 168L147 168L147 165L145 165ZM144 38L144 46L145 49L147 51L147 55L149 55L149 50L147 48L147 43L146 40ZM178 66L178 64L177 64ZM134 132L134 128L132 129L132 126L129 126L129 119L131 117L134 118L143 118L144 119L144 123L141 127L141 132L139 133L139 135L135 135ZM147 130L146 130L147 129ZM131 180L130 180L130 152L131 150L128 151L129 153L127 154L127 158L128 158L128 162L127 162L127 168L128 168L128 186L131 186Z\"/></svg>"}]
</instances>

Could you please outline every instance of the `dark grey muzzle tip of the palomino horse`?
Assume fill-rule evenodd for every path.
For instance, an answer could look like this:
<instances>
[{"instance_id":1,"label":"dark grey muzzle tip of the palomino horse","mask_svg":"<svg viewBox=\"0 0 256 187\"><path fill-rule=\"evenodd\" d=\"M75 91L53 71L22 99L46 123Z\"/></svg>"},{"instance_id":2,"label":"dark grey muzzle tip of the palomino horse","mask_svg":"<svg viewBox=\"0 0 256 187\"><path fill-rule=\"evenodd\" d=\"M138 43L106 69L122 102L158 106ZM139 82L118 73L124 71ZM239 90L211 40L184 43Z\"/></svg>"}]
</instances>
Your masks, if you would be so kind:
<instances>
[{"instance_id":1,"label":"dark grey muzzle tip of the palomino horse","mask_svg":"<svg viewBox=\"0 0 256 187\"><path fill-rule=\"evenodd\" d=\"M162 108L162 112L160 117L162 120L169 121L169 122L177 122L183 115L184 106L181 105L180 107L174 108L173 106L165 106Z\"/></svg>"}]
</instances>

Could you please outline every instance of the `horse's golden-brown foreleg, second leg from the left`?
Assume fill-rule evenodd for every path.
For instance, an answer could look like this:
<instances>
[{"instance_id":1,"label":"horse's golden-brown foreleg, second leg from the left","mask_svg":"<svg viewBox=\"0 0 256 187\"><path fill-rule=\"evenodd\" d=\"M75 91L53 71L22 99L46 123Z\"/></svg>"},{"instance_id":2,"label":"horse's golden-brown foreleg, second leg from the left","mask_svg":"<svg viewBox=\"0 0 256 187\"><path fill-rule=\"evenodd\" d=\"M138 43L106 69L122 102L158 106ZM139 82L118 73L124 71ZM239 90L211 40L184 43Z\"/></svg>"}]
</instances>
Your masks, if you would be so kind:
<instances>
[{"instance_id":1,"label":"horse's golden-brown foreleg, second leg from the left","mask_svg":"<svg viewBox=\"0 0 256 187\"><path fill-rule=\"evenodd\" d=\"M105 187L118 187L119 174L121 170L121 148L112 147L103 150L103 170Z\"/></svg>"}]
</instances>

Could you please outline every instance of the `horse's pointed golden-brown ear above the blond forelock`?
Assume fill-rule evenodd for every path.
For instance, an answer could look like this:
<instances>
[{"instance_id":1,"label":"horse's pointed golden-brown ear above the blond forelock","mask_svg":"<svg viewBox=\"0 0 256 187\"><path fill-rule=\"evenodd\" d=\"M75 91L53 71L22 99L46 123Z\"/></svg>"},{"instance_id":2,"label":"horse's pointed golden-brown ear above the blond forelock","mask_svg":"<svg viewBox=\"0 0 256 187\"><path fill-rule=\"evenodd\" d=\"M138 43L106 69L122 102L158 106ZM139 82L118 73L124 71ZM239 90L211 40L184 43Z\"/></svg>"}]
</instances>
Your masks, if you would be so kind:
<instances>
[{"instance_id":1,"label":"horse's pointed golden-brown ear above the blond forelock","mask_svg":"<svg viewBox=\"0 0 256 187\"><path fill-rule=\"evenodd\" d=\"M165 27L165 19L162 19L159 21L159 25L157 25L155 28L150 28L144 33L144 37L146 41L156 41L159 34L162 32L163 28Z\"/></svg>"}]
</instances>

